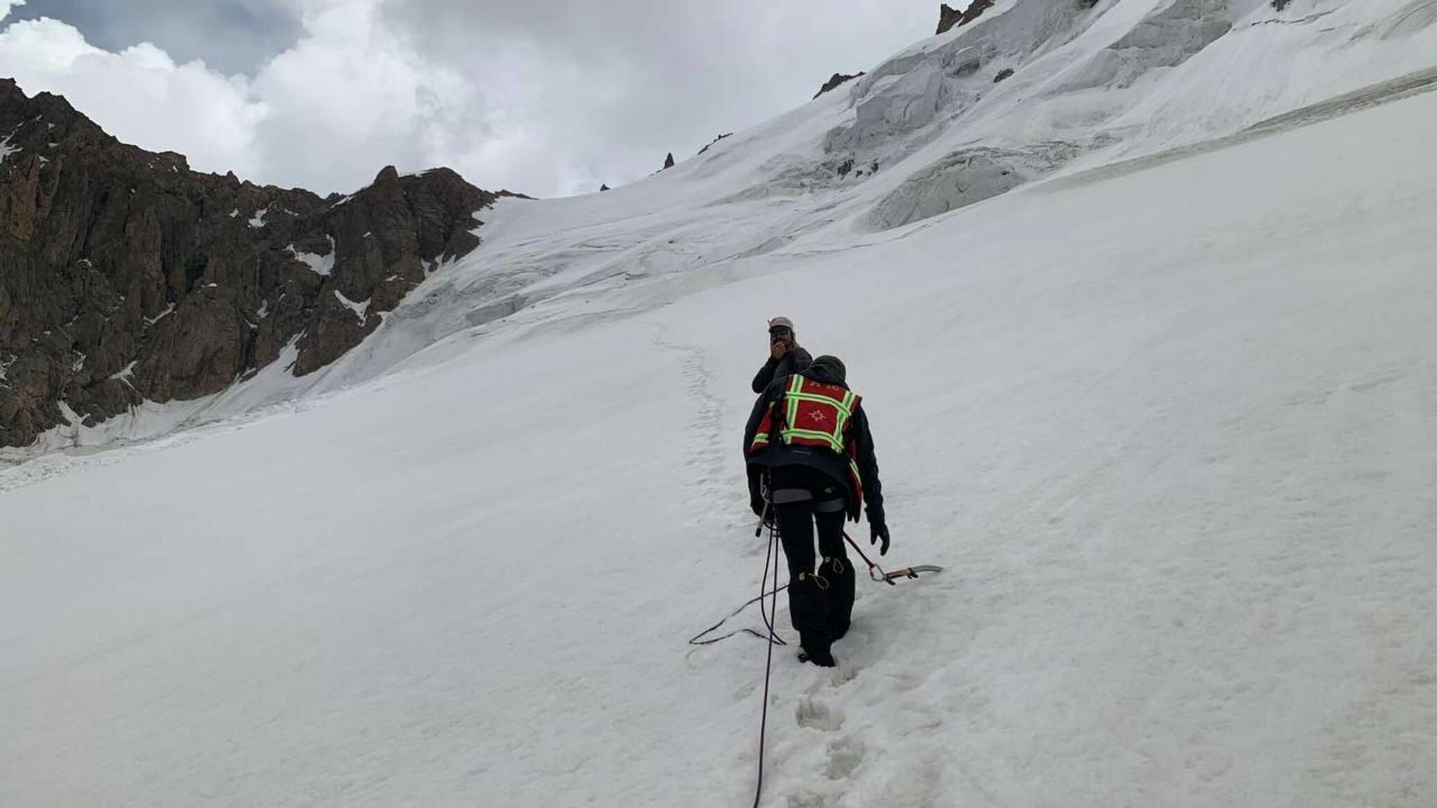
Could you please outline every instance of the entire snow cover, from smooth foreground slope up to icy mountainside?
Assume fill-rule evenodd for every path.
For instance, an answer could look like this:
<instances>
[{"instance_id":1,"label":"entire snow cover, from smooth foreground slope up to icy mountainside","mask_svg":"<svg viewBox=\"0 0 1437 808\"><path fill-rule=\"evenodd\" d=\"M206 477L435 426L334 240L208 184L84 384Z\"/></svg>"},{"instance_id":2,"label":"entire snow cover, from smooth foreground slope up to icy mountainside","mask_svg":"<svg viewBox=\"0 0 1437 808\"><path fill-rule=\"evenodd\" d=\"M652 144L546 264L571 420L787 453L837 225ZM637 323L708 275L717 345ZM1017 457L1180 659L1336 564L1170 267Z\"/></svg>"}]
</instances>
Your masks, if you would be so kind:
<instances>
[{"instance_id":1,"label":"entire snow cover, from smooth foreground slope up to icy mountainside","mask_svg":"<svg viewBox=\"0 0 1437 808\"><path fill-rule=\"evenodd\" d=\"M0 472L0 804L746 804L763 644L684 640L756 594L785 313L865 395L885 562L948 572L776 660L764 805L1428 805L1434 14L1298 6L1000 1L500 203L319 380L47 436L162 437ZM902 224L976 148L1043 157Z\"/></svg>"}]
</instances>

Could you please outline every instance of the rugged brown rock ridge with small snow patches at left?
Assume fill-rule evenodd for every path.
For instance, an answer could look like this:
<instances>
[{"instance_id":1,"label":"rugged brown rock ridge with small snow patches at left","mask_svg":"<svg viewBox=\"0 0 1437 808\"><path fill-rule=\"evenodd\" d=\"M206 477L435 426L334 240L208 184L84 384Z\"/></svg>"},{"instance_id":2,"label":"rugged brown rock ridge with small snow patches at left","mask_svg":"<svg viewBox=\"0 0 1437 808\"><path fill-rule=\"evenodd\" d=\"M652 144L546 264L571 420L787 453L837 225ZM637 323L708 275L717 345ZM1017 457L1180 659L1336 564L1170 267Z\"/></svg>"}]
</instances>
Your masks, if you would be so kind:
<instances>
[{"instance_id":1,"label":"rugged brown rock ridge with small snow patches at left","mask_svg":"<svg viewBox=\"0 0 1437 808\"><path fill-rule=\"evenodd\" d=\"M387 167L349 197L200 174L0 79L0 446L197 398L297 349L312 372L437 263L494 194Z\"/></svg>"}]
</instances>

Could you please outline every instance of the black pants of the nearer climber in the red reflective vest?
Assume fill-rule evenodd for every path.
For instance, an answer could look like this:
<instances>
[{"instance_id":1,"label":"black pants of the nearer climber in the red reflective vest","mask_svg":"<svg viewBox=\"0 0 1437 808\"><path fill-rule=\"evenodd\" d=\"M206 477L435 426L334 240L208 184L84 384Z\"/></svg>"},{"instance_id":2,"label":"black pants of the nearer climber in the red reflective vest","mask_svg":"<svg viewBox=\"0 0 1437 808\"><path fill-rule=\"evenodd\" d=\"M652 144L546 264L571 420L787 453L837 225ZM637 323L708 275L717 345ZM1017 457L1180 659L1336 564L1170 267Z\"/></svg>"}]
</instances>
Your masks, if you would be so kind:
<instances>
[{"instance_id":1,"label":"black pants of the nearer climber in the red reflective vest","mask_svg":"<svg viewBox=\"0 0 1437 808\"><path fill-rule=\"evenodd\" d=\"M844 546L844 489L818 472L787 466L773 469L769 487L789 559L793 628L803 648L826 651L848 633L854 614L854 566ZM813 556L815 526L821 558Z\"/></svg>"}]
</instances>

